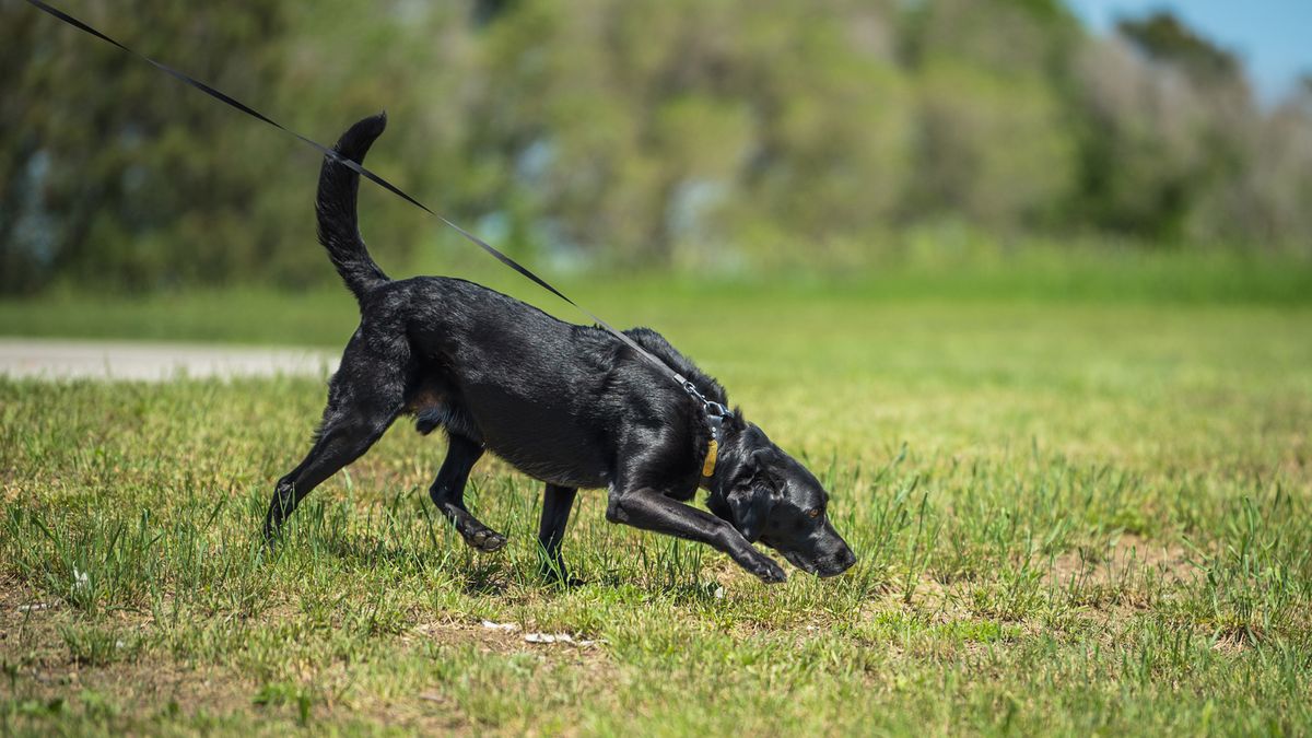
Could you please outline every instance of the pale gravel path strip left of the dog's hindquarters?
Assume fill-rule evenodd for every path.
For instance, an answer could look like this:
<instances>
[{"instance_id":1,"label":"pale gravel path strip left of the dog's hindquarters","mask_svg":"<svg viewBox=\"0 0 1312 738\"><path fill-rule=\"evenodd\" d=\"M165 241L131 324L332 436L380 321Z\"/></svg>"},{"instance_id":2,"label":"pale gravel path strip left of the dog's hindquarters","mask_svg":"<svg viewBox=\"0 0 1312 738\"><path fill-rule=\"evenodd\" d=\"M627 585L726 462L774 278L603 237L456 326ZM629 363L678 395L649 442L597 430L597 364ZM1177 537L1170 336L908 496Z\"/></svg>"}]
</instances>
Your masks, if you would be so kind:
<instances>
[{"instance_id":1,"label":"pale gravel path strip left of the dog's hindquarters","mask_svg":"<svg viewBox=\"0 0 1312 738\"><path fill-rule=\"evenodd\" d=\"M237 348L205 344L0 337L0 376L49 380L178 377L325 377L337 356L303 348Z\"/></svg>"}]
</instances>

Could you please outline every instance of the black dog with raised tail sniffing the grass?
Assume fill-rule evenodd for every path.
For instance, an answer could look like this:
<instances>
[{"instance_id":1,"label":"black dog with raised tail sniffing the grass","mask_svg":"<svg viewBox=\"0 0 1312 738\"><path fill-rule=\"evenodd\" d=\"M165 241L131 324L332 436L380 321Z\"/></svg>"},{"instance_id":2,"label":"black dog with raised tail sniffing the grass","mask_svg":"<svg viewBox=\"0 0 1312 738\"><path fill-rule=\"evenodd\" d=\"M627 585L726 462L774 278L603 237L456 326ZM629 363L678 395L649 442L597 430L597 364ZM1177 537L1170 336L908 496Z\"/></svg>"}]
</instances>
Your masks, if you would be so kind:
<instances>
[{"instance_id":1,"label":"black dog with raised tail sniffing the grass","mask_svg":"<svg viewBox=\"0 0 1312 738\"><path fill-rule=\"evenodd\" d=\"M359 121L336 151L363 160L386 125L384 116ZM464 280L388 280L359 236L358 188L356 172L325 158L319 240L361 319L314 448L278 481L269 540L302 498L409 412L421 433L441 427L450 437L429 494L470 545L505 545L464 507L464 483L484 450L546 482L538 540L548 578L568 579L560 540L579 487L610 490L606 520L708 544L765 582L782 582L783 569L754 541L820 576L855 562L829 524L820 482L741 411L724 419L718 462L703 477L711 433L701 404L610 334ZM724 404L724 389L659 334L626 335ZM685 504L698 486L710 491L714 515Z\"/></svg>"}]
</instances>

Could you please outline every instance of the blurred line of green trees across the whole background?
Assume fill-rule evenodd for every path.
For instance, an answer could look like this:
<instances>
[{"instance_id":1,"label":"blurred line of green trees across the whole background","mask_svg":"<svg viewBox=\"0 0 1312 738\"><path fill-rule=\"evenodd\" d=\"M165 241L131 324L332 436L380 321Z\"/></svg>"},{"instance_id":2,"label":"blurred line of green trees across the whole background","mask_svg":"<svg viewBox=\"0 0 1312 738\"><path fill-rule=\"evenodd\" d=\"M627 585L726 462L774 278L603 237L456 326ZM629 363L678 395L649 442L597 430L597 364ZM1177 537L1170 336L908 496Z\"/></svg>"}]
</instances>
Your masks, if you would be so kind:
<instances>
[{"instance_id":1,"label":"blurred line of green trees across the whole background","mask_svg":"<svg viewBox=\"0 0 1312 738\"><path fill-rule=\"evenodd\" d=\"M1312 246L1312 83L1261 105L1165 13L1059 0L63 0L556 267L861 264L897 234ZM0 289L331 278L318 160L0 0ZM370 205L384 264L433 223Z\"/></svg>"}]
</instances>

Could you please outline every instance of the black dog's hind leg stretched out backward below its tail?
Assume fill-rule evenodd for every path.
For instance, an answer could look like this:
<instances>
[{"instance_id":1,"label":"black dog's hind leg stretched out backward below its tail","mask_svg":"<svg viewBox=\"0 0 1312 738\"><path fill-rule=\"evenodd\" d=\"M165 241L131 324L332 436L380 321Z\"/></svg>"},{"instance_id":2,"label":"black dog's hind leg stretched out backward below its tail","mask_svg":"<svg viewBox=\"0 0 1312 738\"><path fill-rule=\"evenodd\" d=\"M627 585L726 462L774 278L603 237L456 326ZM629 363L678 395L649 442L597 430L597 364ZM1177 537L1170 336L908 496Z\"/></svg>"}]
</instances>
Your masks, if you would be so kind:
<instances>
[{"instance_id":1,"label":"black dog's hind leg stretched out backward below its tail","mask_svg":"<svg viewBox=\"0 0 1312 738\"><path fill-rule=\"evenodd\" d=\"M314 446L299 466L278 479L264 520L266 541L272 542L306 495L369 450L401 411L408 352L382 356L365 343L357 334L346 347L328 387L328 407Z\"/></svg>"}]
</instances>

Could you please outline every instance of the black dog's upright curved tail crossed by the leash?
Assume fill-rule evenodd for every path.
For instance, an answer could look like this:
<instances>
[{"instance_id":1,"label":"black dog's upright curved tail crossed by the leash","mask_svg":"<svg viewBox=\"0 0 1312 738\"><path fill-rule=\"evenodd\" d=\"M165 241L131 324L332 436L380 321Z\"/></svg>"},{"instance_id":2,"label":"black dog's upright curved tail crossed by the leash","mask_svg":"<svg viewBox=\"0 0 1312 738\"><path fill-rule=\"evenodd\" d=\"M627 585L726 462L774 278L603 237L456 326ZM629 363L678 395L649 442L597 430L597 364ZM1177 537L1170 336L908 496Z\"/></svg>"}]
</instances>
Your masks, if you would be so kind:
<instances>
[{"instance_id":1,"label":"black dog's upright curved tail crossed by the leash","mask_svg":"<svg viewBox=\"0 0 1312 738\"><path fill-rule=\"evenodd\" d=\"M333 151L352 162L361 163L365 154L383 129L387 127L387 113L379 113L350 126L341 134ZM387 274L374 263L359 236L359 219L356 215L356 194L359 192L359 175L324 156L319 172L319 196L315 213L319 215L319 243L328 250L328 259L341 274L341 281L363 302L365 295L388 282Z\"/></svg>"}]
</instances>

